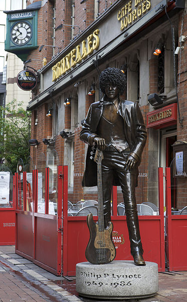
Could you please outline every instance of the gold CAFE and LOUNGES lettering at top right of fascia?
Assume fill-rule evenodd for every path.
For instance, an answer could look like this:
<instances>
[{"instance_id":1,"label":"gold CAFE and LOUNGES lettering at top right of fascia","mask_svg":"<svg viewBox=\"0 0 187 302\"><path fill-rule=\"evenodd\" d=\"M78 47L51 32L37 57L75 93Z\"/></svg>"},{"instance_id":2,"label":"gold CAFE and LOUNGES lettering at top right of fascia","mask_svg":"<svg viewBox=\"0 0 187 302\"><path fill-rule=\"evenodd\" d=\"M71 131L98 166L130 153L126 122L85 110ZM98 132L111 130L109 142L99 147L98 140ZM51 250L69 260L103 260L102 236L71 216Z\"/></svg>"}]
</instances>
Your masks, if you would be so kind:
<instances>
[{"instance_id":1,"label":"gold CAFE and LOUNGES lettering at top right of fascia","mask_svg":"<svg viewBox=\"0 0 187 302\"><path fill-rule=\"evenodd\" d=\"M133 0L129 1L122 7L117 13L117 20L121 23L121 30L127 28L133 22L137 21L138 18L142 17L143 14L150 10L150 0Z\"/></svg>"}]
</instances>

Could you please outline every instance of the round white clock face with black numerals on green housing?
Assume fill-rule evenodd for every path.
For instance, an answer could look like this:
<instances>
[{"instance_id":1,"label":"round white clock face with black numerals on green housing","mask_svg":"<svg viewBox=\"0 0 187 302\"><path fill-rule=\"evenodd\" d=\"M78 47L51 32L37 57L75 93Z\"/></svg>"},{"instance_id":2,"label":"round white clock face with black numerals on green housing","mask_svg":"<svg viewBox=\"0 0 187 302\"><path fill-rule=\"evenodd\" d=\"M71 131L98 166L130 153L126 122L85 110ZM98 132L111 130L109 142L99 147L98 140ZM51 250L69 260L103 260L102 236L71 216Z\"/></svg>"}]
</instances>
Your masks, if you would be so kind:
<instances>
[{"instance_id":1,"label":"round white clock face with black numerals on green housing","mask_svg":"<svg viewBox=\"0 0 187 302\"><path fill-rule=\"evenodd\" d=\"M14 44L22 46L27 44L32 37L32 28L26 21L14 24L11 30L11 40Z\"/></svg>"}]
</instances>

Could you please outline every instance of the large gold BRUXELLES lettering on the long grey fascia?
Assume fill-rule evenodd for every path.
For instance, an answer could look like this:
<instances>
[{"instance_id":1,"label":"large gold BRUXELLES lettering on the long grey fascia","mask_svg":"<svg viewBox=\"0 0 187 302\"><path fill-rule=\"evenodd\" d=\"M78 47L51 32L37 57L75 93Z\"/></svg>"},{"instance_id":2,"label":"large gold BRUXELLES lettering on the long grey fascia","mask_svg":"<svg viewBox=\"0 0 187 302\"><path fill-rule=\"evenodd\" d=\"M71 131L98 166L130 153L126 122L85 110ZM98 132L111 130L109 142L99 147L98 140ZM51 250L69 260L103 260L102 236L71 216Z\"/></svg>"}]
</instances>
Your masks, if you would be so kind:
<instances>
[{"instance_id":1,"label":"large gold BRUXELLES lettering on the long grey fascia","mask_svg":"<svg viewBox=\"0 0 187 302\"><path fill-rule=\"evenodd\" d=\"M57 62L53 67L53 79L56 81L61 75L65 74L66 71L70 70L77 63L80 63L82 59L85 59L94 50L99 47L99 29L96 29L93 34L89 35L86 40L83 40L81 45L77 45L73 48L65 57Z\"/></svg>"}]
</instances>

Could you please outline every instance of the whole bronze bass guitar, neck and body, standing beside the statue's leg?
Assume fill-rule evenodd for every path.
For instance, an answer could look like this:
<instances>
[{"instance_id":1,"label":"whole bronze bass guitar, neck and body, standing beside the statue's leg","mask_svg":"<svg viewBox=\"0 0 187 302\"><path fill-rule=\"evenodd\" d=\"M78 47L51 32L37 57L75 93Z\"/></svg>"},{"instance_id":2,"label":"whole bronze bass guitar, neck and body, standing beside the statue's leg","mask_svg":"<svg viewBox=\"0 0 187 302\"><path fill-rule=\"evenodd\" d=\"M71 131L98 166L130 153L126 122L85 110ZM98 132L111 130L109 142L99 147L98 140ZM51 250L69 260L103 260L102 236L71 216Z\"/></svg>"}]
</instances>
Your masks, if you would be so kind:
<instances>
[{"instance_id":1,"label":"whole bronze bass guitar, neck and body, standing beside the statue's leg","mask_svg":"<svg viewBox=\"0 0 187 302\"><path fill-rule=\"evenodd\" d=\"M112 241L113 224L108 222L104 228L103 215L103 194L102 194L102 175L101 161L103 153L96 149L94 161L97 163L97 189L98 189L98 221L93 221L92 213L87 216L87 225L90 232L90 239L85 251L86 259L93 264L104 264L114 260L116 250Z\"/></svg>"}]
</instances>

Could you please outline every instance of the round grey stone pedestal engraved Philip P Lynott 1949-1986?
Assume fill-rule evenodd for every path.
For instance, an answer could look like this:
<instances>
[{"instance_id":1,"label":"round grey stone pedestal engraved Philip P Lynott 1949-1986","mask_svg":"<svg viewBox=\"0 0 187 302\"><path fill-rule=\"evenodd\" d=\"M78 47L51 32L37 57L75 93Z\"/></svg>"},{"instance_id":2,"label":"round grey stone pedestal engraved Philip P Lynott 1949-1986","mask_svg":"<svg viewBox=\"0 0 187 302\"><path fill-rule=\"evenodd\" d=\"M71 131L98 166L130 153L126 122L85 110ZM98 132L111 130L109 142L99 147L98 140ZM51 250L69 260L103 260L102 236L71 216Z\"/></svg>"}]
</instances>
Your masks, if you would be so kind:
<instances>
[{"instance_id":1,"label":"round grey stone pedestal engraved Philip P Lynott 1949-1986","mask_svg":"<svg viewBox=\"0 0 187 302\"><path fill-rule=\"evenodd\" d=\"M91 298L149 297L158 290L158 266L154 262L135 266L122 260L101 265L81 262L76 265L76 290Z\"/></svg>"}]
</instances>

